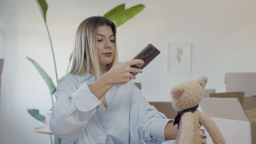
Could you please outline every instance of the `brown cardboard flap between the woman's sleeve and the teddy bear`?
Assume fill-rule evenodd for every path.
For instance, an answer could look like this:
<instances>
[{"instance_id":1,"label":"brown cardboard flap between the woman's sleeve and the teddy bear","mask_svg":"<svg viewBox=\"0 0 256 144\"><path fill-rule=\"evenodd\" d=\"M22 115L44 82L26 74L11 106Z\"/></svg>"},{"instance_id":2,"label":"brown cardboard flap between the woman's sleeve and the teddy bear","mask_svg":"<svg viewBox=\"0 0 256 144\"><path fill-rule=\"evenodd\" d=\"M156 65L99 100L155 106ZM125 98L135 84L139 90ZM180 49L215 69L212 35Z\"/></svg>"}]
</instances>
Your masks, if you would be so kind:
<instances>
[{"instance_id":1,"label":"brown cardboard flap between the woman's sleeve and the teddy bear","mask_svg":"<svg viewBox=\"0 0 256 144\"><path fill-rule=\"evenodd\" d=\"M177 111L175 111L172 107L171 102L149 102L150 105L153 105L156 110L164 113L165 116L169 119L174 119L177 115Z\"/></svg>"}]
</instances>

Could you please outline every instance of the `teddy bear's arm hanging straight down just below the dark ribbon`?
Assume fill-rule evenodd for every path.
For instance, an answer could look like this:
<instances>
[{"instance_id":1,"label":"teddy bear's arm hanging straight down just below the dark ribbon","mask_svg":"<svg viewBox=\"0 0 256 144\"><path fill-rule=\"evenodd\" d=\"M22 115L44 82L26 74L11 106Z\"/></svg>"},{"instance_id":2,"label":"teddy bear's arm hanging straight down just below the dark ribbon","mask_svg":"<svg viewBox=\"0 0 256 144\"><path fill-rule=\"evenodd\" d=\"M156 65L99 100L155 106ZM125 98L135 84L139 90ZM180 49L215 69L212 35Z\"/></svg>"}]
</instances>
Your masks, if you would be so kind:
<instances>
[{"instance_id":1,"label":"teddy bear's arm hanging straight down just below the dark ribbon","mask_svg":"<svg viewBox=\"0 0 256 144\"><path fill-rule=\"evenodd\" d=\"M181 118L181 125L179 125L180 137L179 143L189 144L193 141L194 136L194 121L193 114L191 112L186 112Z\"/></svg>"}]
</instances>

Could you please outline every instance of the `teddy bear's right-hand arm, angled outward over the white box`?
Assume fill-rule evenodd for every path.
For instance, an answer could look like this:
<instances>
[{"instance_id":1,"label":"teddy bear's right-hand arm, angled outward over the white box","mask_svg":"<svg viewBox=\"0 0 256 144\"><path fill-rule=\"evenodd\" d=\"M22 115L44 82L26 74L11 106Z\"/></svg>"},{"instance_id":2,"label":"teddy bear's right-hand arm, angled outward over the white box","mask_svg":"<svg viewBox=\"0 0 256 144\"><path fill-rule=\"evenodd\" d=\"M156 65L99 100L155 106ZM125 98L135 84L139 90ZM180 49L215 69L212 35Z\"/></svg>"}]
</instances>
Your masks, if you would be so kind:
<instances>
[{"instance_id":1,"label":"teddy bear's right-hand arm, angled outward over the white box","mask_svg":"<svg viewBox=\"0 0 256 144\"><path fill-rule=\"evenodd\" d=\"M219 128L212 121L212 119L200 111L198 111L198 115L200 123L203 125L203 127L205 127L207 132L210 134L214 144L226 143L222 133L220 133Z\"/></svg>"}]
</instances>

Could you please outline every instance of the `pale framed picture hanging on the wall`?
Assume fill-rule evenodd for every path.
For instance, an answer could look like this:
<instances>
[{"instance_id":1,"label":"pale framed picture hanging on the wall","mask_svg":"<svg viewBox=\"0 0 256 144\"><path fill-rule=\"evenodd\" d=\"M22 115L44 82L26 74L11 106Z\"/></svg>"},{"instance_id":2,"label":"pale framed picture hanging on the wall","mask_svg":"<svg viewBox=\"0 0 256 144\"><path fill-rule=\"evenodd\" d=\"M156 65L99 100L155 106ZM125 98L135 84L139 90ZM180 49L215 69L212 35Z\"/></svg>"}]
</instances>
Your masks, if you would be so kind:
<instances>
[{"instance_id":1,"label":"pale framed picture hanging on the wall","mask_svg":"<svg viewBox=\"0 0 256 144\"><path fill-rule=\"evenodd\" d=\"M191 74L191 43L168 43L167 73Z\"/></svg>"}]
</instances>

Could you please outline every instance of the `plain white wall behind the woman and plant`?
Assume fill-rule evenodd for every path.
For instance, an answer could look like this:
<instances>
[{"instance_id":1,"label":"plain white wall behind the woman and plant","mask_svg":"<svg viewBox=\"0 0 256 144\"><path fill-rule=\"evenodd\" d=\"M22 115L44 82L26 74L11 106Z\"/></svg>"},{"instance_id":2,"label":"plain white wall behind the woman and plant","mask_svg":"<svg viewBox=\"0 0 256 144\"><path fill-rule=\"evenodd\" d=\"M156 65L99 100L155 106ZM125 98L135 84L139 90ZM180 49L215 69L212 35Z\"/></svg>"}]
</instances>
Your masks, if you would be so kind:
<instances>
[{"instance_id":1,"label":"plain white wall behind the woman and plant","mask_svg":"<svg viewBox=\"0 0 256 144\"><path fill-rule=\"evenodd\" d=\"M86 17L103 15L125 1L48 1L48 27L52 36L59 79L65 75L75 29ZM159 55L136 82L149 101L170 101L171 88L207 75L206 88L225 91L226 72L256 71L256 1L130 0L126 6L145 4L139 15L118 27L120 61L129 61L148 43ZM36 59L55 82L53 59L42 16L33 0L0 2L4 22L5 58L0 105L0 143L50 143L49 136L33 131L43 126L26 109L42 114L51 106L48 87L26 56ZM190 42L192 73L166 74L168 42ZM2 56L2 54L0 55ZM56 83L56 82L55 82Z\"/></svg>"}]
</instances>

